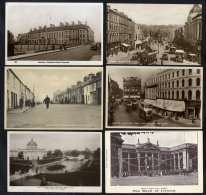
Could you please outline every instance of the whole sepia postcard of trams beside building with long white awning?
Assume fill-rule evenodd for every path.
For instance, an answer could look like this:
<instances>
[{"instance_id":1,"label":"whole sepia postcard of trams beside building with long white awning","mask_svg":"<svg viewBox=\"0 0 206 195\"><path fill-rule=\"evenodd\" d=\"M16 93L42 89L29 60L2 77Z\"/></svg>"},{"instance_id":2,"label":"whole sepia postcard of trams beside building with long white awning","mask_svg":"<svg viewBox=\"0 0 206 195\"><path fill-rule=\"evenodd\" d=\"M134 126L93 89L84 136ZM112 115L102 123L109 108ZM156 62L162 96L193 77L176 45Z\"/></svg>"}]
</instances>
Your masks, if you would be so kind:
<instances>
[{"instance_id":1,"label":"whole sepia postcard of trams beside building with long white awning","mask_svg":"<svg viewBox=\"0 0 206 195\"><path fill-rule=\"evenodd\" d=\"M109 128L202 126L202 68L107 67Z\"/></svg>"}]
</instances>

